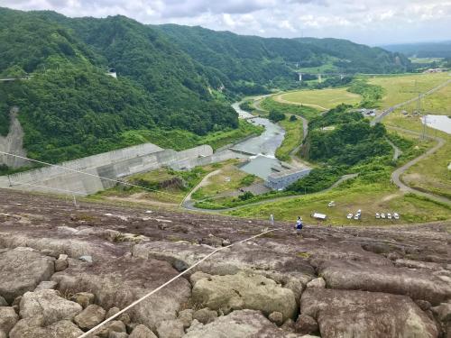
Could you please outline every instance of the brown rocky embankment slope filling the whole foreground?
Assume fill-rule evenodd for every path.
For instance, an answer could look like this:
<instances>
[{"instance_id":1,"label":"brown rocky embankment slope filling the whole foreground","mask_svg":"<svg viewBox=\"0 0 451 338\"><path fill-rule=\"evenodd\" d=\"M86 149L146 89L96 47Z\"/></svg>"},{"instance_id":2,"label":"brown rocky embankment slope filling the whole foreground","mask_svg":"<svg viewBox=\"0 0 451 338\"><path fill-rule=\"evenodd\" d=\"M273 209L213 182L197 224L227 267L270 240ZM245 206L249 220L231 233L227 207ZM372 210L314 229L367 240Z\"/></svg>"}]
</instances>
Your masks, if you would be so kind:
<instances>
[{"instance_id":1,"label":"brown rocky embankment slope filling the whole foreground","mask_svg":"<svg viewBox=\"0 0 451 338\"><path fill-rule=\"evenodd\" d=\"M78 337L269 226L0 190L0 337ZM93 337L451 336L450 223L275 226Z\"/></svg>"}]
</instances>

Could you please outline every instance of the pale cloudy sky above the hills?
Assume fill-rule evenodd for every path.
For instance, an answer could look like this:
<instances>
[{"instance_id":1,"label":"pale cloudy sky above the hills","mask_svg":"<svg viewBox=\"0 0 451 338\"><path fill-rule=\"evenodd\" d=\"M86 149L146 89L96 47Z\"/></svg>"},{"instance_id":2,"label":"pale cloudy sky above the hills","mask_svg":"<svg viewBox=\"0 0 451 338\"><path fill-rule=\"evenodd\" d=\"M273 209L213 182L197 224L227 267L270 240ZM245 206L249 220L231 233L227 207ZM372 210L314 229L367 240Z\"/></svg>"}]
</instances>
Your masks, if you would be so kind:
<instances>
[{"instance_id":1,"label":"pale cloudy sky above the hills","mask_svg":"<svg viewBox=\"0 0 451 338\"><path fill-rule=\"evenodd\" d=\"M0 6L370 45L451 40L451 0L0 0Z\"/></svg>"}]
</instances>

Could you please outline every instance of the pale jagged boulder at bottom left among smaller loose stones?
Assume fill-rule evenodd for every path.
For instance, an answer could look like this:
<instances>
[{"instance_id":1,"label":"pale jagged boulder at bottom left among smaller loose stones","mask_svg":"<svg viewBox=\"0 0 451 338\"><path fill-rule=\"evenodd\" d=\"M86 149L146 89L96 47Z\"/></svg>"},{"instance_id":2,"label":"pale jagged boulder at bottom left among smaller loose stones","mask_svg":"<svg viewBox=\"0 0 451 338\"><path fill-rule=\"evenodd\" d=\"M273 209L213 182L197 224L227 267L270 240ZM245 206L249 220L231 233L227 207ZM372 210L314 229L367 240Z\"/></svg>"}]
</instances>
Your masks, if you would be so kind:
<instances>
[{"instance_id":1,"label":"pale jagged boulder at bottom left among smaller loose stones","mask_svg":"<svg viewBox=\"0 0 451 338\"><path fill-rule=\"evenodd\" d=\"M81 312L79 304L71 302L52 289L27 292L23 295L20 306L22 318L43 316L43 325L50 325L61 320L71 321Z\"/></svg>"}]
</instances>

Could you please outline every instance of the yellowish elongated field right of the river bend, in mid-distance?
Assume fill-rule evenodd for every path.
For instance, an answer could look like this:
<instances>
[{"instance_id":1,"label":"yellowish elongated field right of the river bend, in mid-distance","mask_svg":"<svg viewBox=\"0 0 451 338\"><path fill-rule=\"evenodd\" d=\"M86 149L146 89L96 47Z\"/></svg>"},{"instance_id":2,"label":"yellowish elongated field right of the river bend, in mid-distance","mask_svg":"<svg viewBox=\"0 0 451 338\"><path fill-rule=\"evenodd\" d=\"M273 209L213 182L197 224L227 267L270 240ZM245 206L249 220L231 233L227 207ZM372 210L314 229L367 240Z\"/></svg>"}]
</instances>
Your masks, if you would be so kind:
<instances>
[{"instance_id":1,"label":"yellowish elongated field right of the river bend, in mid-distance","mask_svg":"<svg viewBox=\"0 0 451 338\"><path fill-rule=\"evenodd\" d=\"M327 88L317 90L299 90L274 96L281 103L294 105L309 105L327 110L339 104L358 104L362 96L349 93L346 88Z\"/></svg>"}]
</instances>

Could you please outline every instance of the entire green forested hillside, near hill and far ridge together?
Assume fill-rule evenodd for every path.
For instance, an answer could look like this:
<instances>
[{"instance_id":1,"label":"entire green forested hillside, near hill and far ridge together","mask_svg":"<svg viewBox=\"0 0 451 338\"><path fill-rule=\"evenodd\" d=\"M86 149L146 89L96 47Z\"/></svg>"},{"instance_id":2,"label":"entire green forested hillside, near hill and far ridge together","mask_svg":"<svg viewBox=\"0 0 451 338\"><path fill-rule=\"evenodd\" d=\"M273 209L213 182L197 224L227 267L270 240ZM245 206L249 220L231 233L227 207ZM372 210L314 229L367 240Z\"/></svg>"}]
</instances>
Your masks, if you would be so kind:
<instances>
[{"instance_id":1,"label":"entire green forested hillside, near hill and far ridge together","mask_svg":"<svg viewBox=\"0 0 451 338\"><path fill-rule=\"evenodd\" d=\"M169 140L174 135L189 139L187 146L204 136L220 144L218 132L254 132L238 123L230 102L287 83L298 86L295 63L332 60L353 72L398 72L410 65L385 50L325 41L0 8L0 76L31 76L0 83L0 133L8 132L10 108L18 106L24 146L34 159L69 160L139 142L179 148ZM346 54L349 46L354 50ZM109 68L118 78L106 75Z\"/></svg>"}]
</instances>

